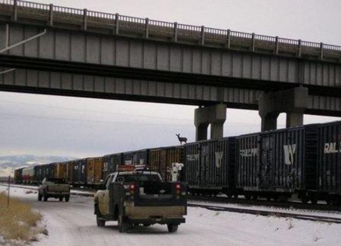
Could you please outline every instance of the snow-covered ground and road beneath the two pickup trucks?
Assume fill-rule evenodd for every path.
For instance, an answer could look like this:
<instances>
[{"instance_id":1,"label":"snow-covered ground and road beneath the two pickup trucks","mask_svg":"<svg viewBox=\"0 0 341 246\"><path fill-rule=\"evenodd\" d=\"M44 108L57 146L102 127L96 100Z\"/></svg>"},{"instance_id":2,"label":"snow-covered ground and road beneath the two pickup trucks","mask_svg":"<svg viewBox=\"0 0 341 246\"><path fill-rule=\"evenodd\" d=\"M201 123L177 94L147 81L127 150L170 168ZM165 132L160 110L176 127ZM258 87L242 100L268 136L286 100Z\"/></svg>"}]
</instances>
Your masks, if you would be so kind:
<instances>
[{"instance_id":1,"label":"snow-covered ground and road beneath the two pickup trucks","mask_svg":"<svg viewBox=\"0 0 341 246\"><path fill-rule=\"evenodd\" d=\"M0 192L6 187L0 186ZM166 226L139 227L120 234L116 222L96 226L93 198L72 196L69 203L50 199L38 202L37 194L13 188L11 194L30 203L44 215L48 236L38 245L340 245L340 224L264 217L188 208L187 222L177 233Z\"/></svg>"}]
</instances>

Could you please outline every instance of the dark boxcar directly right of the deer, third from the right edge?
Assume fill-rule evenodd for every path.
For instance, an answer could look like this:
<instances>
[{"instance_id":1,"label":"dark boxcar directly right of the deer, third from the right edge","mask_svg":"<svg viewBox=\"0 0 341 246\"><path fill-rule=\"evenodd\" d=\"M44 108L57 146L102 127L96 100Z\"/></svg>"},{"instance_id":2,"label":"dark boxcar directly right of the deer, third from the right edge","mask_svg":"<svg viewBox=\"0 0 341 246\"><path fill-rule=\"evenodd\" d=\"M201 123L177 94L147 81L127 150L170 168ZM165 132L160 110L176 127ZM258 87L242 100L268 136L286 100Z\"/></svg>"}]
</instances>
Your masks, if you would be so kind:
<instances>
[{"instance_id":1,"label":"dark boxcar directly right of the deer, third from the right edge","mask_svg":"<svg viewBox=\"0 0 341 246\"><path fill-rule=\"evenodd\" d=\"M237 195L235 189L235 137L185 145L185 180L194 194Z\"/></svg>"}]
</instances>

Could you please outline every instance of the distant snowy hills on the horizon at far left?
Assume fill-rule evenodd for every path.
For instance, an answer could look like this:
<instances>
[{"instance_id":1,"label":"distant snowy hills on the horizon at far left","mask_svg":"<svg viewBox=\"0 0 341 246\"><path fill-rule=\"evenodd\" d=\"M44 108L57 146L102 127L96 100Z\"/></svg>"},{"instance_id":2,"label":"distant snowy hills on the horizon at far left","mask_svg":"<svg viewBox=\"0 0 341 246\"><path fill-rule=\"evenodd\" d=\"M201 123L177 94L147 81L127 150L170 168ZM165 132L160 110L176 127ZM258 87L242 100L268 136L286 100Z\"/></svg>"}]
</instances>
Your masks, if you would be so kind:
<instances>
[{"instance_id":1,"label":"distant snowy hills on the horizon at far left","mask_svg":"<svg viewBox=\"0 0 341 246\"><path fill-rule=\"evenodd\" d=\"M75 158L65 156L11 155L0 156L0 176L14 175L14 169L30 165L67 161Z\"/></svg>"}]
</instances>

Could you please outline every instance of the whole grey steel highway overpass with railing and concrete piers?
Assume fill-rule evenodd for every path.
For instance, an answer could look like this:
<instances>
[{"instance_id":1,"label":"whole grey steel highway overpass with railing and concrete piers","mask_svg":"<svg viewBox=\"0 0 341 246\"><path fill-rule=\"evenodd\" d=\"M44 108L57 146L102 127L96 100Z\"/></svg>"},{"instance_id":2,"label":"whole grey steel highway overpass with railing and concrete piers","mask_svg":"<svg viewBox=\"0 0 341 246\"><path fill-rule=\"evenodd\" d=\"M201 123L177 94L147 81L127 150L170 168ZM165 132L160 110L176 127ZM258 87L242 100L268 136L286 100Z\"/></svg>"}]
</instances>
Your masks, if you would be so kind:
<instances>
[{"instance_id":1,"label":"whole grey steel highway overpass with railing and concrete piers","mask_svg":"<svg viewBox=\"0 0 341 246\"><path fill-rule=\"evenodd\" d=\"M341 116L341 47L26 1L0 0L0 90L200 106L197 140L226 107L262 130Z\"/></svg>"}]
</instances>

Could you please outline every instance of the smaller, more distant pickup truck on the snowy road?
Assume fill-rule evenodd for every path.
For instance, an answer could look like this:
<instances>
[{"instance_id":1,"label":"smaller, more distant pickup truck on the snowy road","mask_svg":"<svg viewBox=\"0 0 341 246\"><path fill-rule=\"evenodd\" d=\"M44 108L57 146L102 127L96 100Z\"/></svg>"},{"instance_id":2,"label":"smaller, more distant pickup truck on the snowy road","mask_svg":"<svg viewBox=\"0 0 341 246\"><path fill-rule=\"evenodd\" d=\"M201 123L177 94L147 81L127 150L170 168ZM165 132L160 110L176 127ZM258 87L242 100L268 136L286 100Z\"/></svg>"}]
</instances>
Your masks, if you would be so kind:
<instances>
[{"instance_id":1,"label":"smaller, more distant pickup truck on the snowy road","mask_svg":"<svg viewBox=\"0 0 341 246\"><path fill-rule=\"evenodd\" d=\"M59 198L61 202L63 198L65 202L70 200L70 184L66 183L64 178L44 178L38 189L38 201L42 199L44 202L48 198Z\"/></svg>"}]
</instances>

